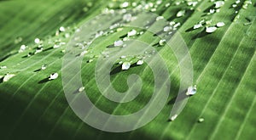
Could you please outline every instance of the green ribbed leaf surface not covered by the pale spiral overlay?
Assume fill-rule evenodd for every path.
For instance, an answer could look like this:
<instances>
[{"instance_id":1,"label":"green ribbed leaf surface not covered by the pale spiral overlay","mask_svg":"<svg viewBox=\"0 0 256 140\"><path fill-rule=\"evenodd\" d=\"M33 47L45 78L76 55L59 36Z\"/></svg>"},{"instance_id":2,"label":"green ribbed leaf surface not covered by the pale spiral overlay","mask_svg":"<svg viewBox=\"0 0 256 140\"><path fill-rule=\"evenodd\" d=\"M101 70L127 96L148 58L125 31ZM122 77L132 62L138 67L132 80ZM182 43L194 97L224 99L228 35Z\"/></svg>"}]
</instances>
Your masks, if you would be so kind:
<instances>
[{"instance_id":1,"label":"green ribbed leaf surface not covered by the pale spiral overlay","mask_svg":"<svg viewBox=\"0 0 256 140\"><path fill-rule=\"evenodd\" d=\"M253 139L256 132L256 3L251 4L249 0L225 1L221 8L214 8L214 2L202 0L195 7L189 6L189 0L146 2L148 10L154 8L150 3L158 3L155 11L153 9L155 14L181 24L177 31L183 36L193 61L197 93L189 98L176 120L168 119L180 84L178 62L167 46L158 44L160 37L150 31L131 38L152 45L170 72L172 87L160 114L146 126L120 133L102 132L75 115L61 82L67 44L80 25L102 14L106 8L119 9L123 2L0 1L1 139ZM129 3L128 8L133 8L132 2ZM145 7L143 2L135 3ZM208 14L210 9L215 12ZM177 17L181 10L186 12ZM193 29L201 20L211 20L211 23ZM224 26L206 33L206 26L218 22L224 22ZM108 21L102 21L104 23ZM61 26L65 31L59 31ZM116 91L128 89L126 81L131 74L143 80L142 91L129 103L108 100L96 85L98 56L111 49L108 46L131 29L124 27L122 31L98 37L90 44L81 65L86 94L97 108L112 115L129 115L143 109L154 92L154 73L147 64L132 66L129 70L120 70L120 64L113 65L110 77ZM40 39L39 44L35 43L36 38ZM26 45L26 49L19 53L21 45ZM43 65L45 70L41 70ZM54 73L58 73L58 77L49 81ZM200 118L204 119L201 123Z\"/></svg>"}]
</instances>

